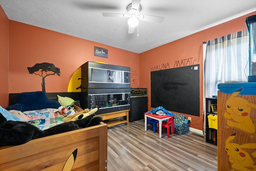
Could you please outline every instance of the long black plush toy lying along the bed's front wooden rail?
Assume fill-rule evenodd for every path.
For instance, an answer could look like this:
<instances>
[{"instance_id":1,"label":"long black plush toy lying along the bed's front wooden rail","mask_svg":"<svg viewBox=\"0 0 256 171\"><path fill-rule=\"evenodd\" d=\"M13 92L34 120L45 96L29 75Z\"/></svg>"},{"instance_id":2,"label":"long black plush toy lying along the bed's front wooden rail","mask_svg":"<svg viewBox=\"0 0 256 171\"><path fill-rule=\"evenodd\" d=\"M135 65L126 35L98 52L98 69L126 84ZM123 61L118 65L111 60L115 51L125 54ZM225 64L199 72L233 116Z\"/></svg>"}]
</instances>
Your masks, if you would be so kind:
<instances>
[{"instance_id":1,"label":"long black plush toy lying along the bed's front wooden rail","mask_svg":"<svg viewBox=\"0 0 256 171\"><path fill-rule=\"evenodd\" d=\"M82 119L61 123L44 131L30 123L8 120L0 113L0 146L20 145L40 137L55 135L67 131L73 131L85 127L98 125L102 121L101 116L94 117L92 113Z\"/></svg>"}]
</instances>

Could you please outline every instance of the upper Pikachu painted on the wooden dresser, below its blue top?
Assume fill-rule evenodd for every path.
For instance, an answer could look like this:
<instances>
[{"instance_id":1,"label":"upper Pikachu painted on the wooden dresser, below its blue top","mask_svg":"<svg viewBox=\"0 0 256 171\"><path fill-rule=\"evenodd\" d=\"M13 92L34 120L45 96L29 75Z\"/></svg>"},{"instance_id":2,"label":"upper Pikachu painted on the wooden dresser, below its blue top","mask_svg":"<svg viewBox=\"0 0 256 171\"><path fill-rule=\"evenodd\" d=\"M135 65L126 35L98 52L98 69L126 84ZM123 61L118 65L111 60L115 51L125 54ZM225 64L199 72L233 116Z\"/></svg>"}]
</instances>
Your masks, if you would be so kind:
<instances>
[{"instance_id":1,"label":"upper Pikachu painted on the wooden dresser, below its blue top","mask_svg":"<svg viewBox=\"0 0 256 171\"><path fill-rule=\"evenodd\" d=\"M236 97L242 89L236 90L226 101L224 117L227 119L227 125L225 127L238 129L254 138L255 125L250 117L250 113L252 108L256 109L256 104Z\"/></svg>"}]
</instances>

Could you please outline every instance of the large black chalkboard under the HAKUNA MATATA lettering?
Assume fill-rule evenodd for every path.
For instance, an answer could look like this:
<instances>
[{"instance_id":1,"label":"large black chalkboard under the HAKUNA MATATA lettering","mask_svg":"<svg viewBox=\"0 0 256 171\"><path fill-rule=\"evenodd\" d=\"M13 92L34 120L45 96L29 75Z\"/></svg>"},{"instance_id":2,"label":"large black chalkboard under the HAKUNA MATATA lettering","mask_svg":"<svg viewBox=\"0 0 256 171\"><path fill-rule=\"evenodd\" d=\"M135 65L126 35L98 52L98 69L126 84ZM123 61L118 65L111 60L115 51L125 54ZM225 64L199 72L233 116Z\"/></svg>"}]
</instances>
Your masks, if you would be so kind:
<instances>
[{"instance_id":1,"label":"large black chalkboard under the HAKUNA MATATA lettering","mask_svg":"<svg viewBox=\"0 0 256 171\"><path fill-rule=\"evenodd\" d=\"M200 116L199 64L151 72L151 107Z\"/></svg>"}]
</instances>

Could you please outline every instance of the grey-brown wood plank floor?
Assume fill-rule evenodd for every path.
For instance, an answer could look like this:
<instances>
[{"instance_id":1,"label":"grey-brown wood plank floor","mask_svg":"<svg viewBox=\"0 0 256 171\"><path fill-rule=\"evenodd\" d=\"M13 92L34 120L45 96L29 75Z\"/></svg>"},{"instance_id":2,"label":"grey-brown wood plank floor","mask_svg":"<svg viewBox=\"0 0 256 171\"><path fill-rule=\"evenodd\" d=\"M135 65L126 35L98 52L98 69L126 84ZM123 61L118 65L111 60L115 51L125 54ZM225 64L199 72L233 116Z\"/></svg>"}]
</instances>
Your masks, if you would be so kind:
<instances>
[{"instance_id":1,"label":"grey-brown wood plank floor","mask_svg":"<svg viewBox=\"0 0 256 171\"><path fill-rule=\"evenodd\" d=\"M190 131L159 138L144 121L108 128L108 171L216 171L217 146ZM158 130L158 129L157 129Z\"/></svg>"}]
</instances>

